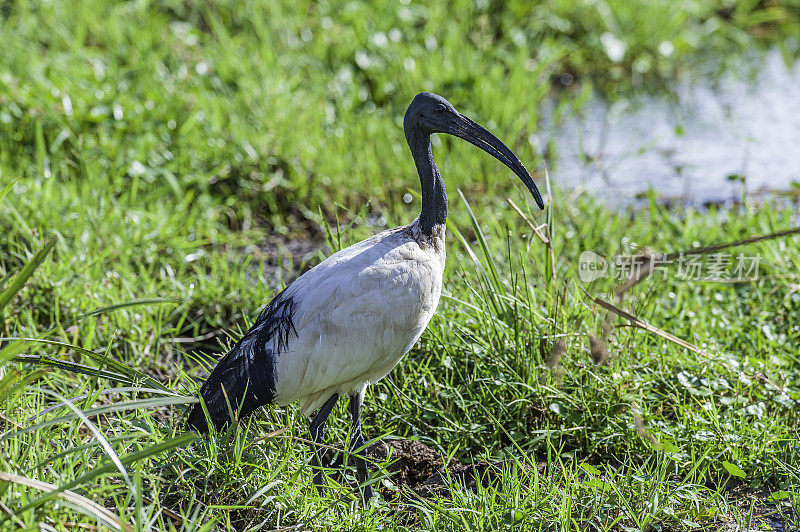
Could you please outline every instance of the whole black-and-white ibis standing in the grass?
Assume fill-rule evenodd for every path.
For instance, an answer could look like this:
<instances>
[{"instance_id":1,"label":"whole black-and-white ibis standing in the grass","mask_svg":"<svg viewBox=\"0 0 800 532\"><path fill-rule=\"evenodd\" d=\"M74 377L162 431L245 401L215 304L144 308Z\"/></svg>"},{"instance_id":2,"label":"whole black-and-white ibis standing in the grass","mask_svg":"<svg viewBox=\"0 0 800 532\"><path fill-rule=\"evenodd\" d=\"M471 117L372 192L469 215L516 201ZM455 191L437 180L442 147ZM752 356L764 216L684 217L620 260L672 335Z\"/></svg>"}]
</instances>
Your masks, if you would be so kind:
<instances>
[{"instance_id":1,"label":"whole black-and-white ibis standing in the grass","mask_svg":"<svg viewBox=\"0 0 800 532\"><path fill-rule=\"evenodd\" d=\"M418 94L403 128L422 185L419 217L334 253L275 296L203 384L208 416L202 405L194 405L191 427L221 429L232 416L241 419L260 406L299 402L305 415L317 411L310 430L321 467L325 422L339 396L347 394L351 449L364 446L361 407L367 385L385 377L411 349L442 293L447 193L433 160L431 134L455 135L493 155L544 208L517 156L441 96ZM369 500L373 491L366 463L359 456L355 462ZM319 469L315 483L322 482Z\"/></svg>"}]
</instances>

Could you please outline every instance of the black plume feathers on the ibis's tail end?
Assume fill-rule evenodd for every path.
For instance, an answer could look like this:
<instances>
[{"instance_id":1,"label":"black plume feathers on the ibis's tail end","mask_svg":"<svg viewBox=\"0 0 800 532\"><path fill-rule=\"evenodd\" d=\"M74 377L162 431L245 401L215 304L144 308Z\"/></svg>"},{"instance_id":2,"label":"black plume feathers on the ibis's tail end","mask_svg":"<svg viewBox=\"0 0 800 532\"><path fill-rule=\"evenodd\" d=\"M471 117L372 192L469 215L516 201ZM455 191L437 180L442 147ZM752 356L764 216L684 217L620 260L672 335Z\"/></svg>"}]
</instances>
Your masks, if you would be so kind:
<instances>
[{"instance_id":1,"label":"black plume feathers on the ibis's tail end","mask_svg":"<svg viewBox=\"0 0 800 532\"><path fill-rule=\"evenodd\" d=\"M241 420L275 399L275 358L285 349L289 334L297 335L292 322L295 306L284 292L275 296L203 383L200 395L216 430L231 421L231 412ZM186 422L200 433L208 432L200 403L191 407Z\"/></svg>"}]
</instances>

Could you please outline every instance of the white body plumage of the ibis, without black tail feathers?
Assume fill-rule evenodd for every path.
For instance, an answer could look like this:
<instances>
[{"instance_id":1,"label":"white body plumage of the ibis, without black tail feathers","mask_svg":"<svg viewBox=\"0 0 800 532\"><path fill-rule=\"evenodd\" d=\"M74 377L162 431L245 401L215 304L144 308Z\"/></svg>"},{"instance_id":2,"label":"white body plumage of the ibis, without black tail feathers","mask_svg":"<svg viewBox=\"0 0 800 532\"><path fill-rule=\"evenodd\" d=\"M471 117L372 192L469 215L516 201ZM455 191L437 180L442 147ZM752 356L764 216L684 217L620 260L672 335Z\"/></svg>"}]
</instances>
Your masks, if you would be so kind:
<instances>
[{"instance_id":1,"label":"white body plumage of the ibis, without black tail feathers","mask_svg":"<svg viewBox=\"0 0 800 532\"><path fill-rule=\"evenodd\" d=\"M333 394L363 393L385 377L427 327L442 293L444 226L419 220L343 249L284 295L295 306L282 349L274 345L275 400L311 415ZM272 340L276 342L276 340Z\"/></svg>"}]
</instances>

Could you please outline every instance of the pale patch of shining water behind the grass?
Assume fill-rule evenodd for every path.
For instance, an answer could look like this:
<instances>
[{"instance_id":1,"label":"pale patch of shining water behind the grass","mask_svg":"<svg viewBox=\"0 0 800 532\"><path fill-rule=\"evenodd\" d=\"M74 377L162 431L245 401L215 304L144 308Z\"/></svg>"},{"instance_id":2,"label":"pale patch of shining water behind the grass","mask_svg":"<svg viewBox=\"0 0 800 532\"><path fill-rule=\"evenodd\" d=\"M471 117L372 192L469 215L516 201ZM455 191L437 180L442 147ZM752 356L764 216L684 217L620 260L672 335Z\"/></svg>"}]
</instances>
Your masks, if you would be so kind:
<instances>
[{"instance_id":1,"label":"pale patch of shining water behind the grass","mask_svg":"<svg viewBox=\"0 0 800 532\"><path fill-rule=\"evenodd\" d=\"M756 74L728 73L677 89L676 98L591 101L550 125L553 179L610 201L633 202L652 186L662 199L727 202L800 182L800 65L769 53ZM793 185L794 183L794 185Z\"/></svg>"}]
</instances>

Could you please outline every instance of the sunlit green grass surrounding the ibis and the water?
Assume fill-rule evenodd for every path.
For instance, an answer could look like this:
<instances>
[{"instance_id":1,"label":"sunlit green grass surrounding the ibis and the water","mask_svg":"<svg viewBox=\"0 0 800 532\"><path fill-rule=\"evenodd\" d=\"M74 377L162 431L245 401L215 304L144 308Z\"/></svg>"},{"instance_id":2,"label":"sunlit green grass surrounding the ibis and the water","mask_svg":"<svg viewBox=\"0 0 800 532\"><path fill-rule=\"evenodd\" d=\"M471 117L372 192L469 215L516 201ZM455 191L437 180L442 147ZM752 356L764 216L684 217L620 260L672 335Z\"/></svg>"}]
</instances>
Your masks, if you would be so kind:
<instances>
[{"instance_id":1,"label":"sunlit green grass surrounding the ibis and the water","mask_svg":"<svg viewBox=\"0 0 800 532\"><path fill-rule=\"evenodd\" d=\"M417 187L401 128L416 92L446 95L534 169L528 135L546 99L569 112L591 87L615 97L709 58L798 53L796 4L679 7L0 6L2 528L713 529L755 526L764 508L796 527L800 237L732 251L760 258L758 280L686 281L672 266L618 303L698 353L608 316L590 296L613 302L616 283L577 274L584 250L688 250L798 225L795 210L653 201L634 217L555 188L551 210L531 212L509 172L450 139L435 145L451 197L445 293L368 391L365 432L503 461L502 483L424 498L383 464L387 495L362 509L352 479L313 488L292 408L211 439L181 424L201 352L291 281L275 267L290 250L303 268L326 241L416 216L418 200L401 200ZM582 88L560 86L566 73ZM547 224L555 263L507 198ZM346 441L345 408L332 419L330 441Z\"/></svg>"}]
</instances>

